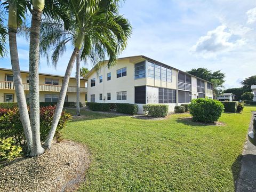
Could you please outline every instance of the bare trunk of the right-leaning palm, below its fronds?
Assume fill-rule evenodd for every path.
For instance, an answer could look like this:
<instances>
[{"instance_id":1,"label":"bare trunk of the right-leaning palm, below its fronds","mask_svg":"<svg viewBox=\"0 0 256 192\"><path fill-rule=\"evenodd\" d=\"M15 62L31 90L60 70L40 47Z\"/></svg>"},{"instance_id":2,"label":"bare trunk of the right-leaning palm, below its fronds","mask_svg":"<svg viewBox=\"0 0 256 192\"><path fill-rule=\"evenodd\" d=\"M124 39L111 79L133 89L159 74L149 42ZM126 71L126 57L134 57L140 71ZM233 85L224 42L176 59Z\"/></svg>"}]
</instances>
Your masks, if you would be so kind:
<instances>
[{"instance_id":1,"label":"bare trunk of the right-leaning palm, below its fronds","mask_svg":"<svg viewBox=\"0 0 256 192\"><path fill-rule=\"evenodd\" d=\"M60 120L60 116L61 116L61 113L62 113L63 105L64 105L64 102L65 102L65 97L66 97L66 93L67 93L67 90L68 90L69 77L70 77L71 71L73 69L73 65L74 65L74 62L76 60L76 55L78 54L78 52L79 52L79 49L75 48L71 57L70 57L70 60L68 62L68 66L67 66L66 73L65 73L65 76L64 76L64 79L63 79L61 90L60 90L59 100L58 100L58 103L57 103L57 106L56 106L56 109L55 109L55 113L54 113L54 116L53 116L51 130L50 130L50 132L49 132L49 134L48 134L48 136L45 140L45 143L44 143L44 148L45 149L50 149L51 148L52 140L54 138L54 134L55 134L55 131L57 129L57 126L58 126L58 123L59 123L59 120Z\"/></svg>"}]
</instances>

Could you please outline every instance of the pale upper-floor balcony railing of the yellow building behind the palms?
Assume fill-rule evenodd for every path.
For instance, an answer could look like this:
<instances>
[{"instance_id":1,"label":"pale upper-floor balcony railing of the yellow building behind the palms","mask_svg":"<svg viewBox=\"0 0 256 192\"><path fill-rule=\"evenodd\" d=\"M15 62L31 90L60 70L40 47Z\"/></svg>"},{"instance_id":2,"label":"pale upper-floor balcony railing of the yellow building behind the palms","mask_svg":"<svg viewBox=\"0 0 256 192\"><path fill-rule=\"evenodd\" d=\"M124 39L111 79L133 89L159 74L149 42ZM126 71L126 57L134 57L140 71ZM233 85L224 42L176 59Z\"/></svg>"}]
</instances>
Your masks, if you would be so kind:
<instances>
[{"instance_id":1,"label":"pale upper-floor balcony railing of the yellow building behind the palms","mask_svg":"<svg viewBox=\"0 0 256 192\"><path fill-rule=\"evenodd\" d=\"M14 90L13 82L0 82L0 89L4 90ZM28 91L29 90L29 83L23 83L23 89ZM60 92L61 85L45 85L39 84L39 91L50 91L50 92ZM68 86L69 93L76 93L75 86ZM86 93L87 90L85 87L80 87L80 93Z\"/></svg>"}]
</instances>

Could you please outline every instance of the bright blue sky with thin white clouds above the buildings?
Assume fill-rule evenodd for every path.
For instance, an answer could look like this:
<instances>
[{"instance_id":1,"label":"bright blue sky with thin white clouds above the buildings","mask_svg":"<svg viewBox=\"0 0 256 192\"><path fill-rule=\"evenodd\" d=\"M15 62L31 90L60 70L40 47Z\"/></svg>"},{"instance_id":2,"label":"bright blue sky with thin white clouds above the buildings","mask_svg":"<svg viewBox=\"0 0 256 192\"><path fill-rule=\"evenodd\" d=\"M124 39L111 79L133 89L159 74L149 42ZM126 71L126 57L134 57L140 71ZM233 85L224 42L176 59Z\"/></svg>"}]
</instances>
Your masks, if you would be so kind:
<instances>
[{"instance_id":1,"label":"bright blue sky with thin white clouds above the buildings","mask_svg":"<svg viewBox=\"0 0 256 192\"><path fill-rule=\"evenodd\" d=\"M227 76L225 88L239 87L244 78L256 75L255 1L127 0L120 13L133 27L120 57L142 54L184 71L221 70ZM28 70L25 38L18 38L18 49L21 69ZM63 75L71 53L68 47L57 69L41 58L40 72ZM0 67L11 68L9 56Z\"/></svg>"}]
</instances>

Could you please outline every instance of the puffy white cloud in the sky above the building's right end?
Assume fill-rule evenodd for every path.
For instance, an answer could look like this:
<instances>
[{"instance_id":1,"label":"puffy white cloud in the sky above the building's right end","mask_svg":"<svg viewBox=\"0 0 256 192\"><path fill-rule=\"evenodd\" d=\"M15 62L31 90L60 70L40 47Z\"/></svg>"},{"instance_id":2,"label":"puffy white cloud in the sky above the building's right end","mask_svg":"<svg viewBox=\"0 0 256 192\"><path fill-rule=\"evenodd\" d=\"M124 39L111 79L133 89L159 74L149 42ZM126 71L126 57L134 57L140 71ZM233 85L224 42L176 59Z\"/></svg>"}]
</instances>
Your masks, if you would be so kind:
<instances>
[{"instance_id":1,"label":"puffy white cloud in the sky above the building's right end","mask_svg":"<svg viewBox=\"0 0 256 192\"><path fill-rule=\"evenodd\" d=\"M225 25L218 26L216 29L208 31L207 35L200 37L190 52L207 58L215 57L217 53L231 51L246 43L244 38L234 37L235 34Z\"/></svg>"}]
</instances>

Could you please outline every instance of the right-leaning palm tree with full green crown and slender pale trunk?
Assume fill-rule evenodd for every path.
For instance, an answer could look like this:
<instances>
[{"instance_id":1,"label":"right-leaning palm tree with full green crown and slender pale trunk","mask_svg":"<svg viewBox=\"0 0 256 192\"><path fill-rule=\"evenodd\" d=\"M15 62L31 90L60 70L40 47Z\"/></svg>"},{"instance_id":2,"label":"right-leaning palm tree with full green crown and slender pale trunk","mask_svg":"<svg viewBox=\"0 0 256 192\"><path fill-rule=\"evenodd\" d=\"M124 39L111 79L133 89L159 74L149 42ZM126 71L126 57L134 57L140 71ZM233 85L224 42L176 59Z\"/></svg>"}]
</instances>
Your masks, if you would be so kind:
<instances>
[{"instance_id":1,"label":"right-leaning palm tree with full green crown and slender pale trunk","mask_svg":"<svg viewBox=\"0 0 256 192\"><path fill-rule=\"evenodd\" d=\"M99 59L104 60L105 55L107 55L109 57L107 65L111 67L116 63L118 55L126 47L127 38L131 34L131 26L124 17L118 14L117 2L114 0L69 1L70 12L74 15L76 21L75 32L73 31L73 36L75 37L74 51L67 66L51 130L45 141L45 148L51 148L63 109L71 70L79 51L82 49L81 58L90 58L94 62ZM54 34L52 29L49 30L50 34ZM57 38L51 38L48 43L45 41L45 45L49 46L45 46L42 50L55 48L52 60L53 63L57 64L59 56L65 51L66 43L70 39L70 36L65 36L64 38L62 35L57 36Z\"/></svg>"}]
</instances>

